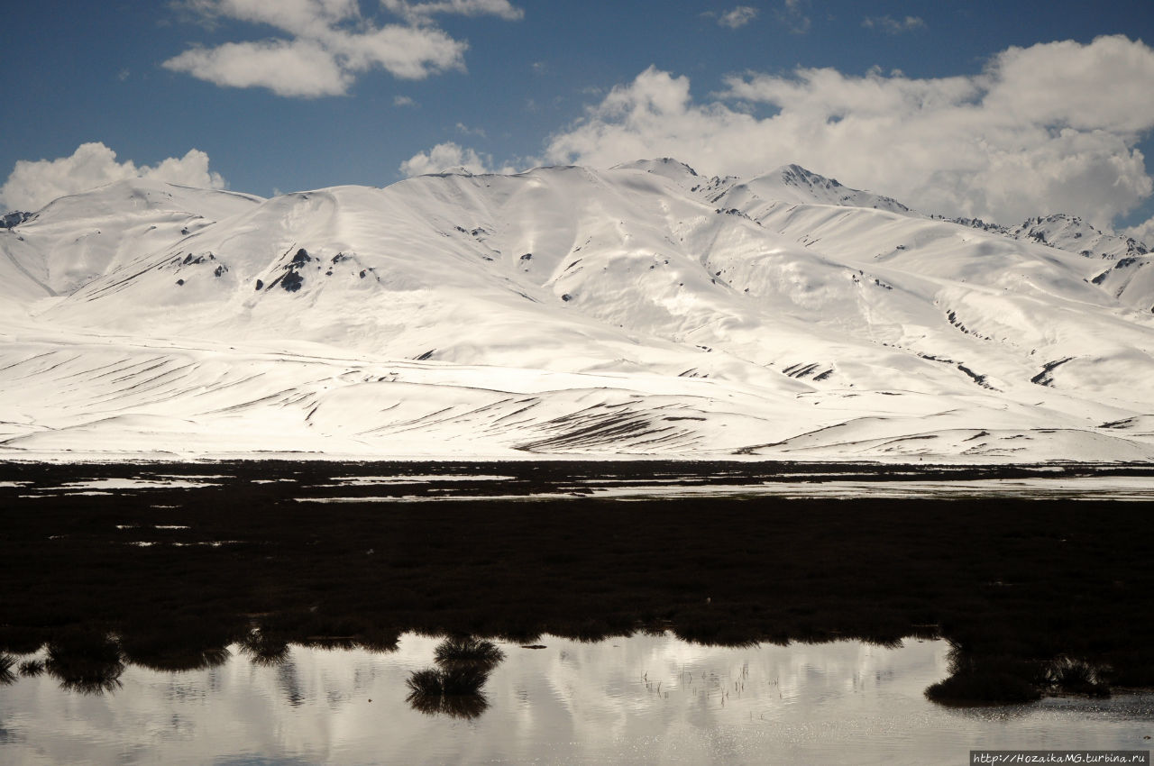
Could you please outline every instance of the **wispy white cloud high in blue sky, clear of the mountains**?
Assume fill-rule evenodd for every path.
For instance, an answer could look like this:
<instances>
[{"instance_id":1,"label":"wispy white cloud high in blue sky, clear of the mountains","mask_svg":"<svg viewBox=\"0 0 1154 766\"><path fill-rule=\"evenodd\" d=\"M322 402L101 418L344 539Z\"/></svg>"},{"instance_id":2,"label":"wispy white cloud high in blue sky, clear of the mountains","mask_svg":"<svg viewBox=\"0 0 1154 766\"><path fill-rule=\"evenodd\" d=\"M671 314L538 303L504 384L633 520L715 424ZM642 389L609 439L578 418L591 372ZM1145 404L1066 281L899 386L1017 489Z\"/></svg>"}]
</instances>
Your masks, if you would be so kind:
<instances>
[{"instance_id":1,"label":"wispy white cloud high in blue sky, clear of the mountains","mask_svg":"<svg viewBox=\"0 0 1154 766\"><path fill-rule=\"evenodd\" d=\"M434 14L522 14L508 0L382 5L406 23L377 25L362 16L358 0L185 0L185 10L210 24L226 18L267 24L283 36L197 46L163 66L222 87L268 88L299 98L340 96L359 74L376 68L404 80L464 70L467 44L434 25Z\"/></svg>"}]
</instances>

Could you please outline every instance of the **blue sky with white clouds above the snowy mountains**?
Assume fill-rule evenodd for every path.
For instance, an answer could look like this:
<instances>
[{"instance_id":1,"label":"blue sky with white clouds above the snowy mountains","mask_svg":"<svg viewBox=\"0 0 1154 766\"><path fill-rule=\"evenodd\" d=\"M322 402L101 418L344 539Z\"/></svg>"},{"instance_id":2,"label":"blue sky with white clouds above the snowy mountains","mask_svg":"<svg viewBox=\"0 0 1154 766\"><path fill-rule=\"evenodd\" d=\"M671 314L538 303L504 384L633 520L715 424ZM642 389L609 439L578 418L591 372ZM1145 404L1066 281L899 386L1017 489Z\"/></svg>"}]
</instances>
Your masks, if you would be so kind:
<instances>
[{"instance_id":1,"label":"blue sky with white clouds above the snowy mountains","mask_svg":"<svg viewBox=\"0 0 1154 766\"><path fill-rule=\"evenodd\" d=\"M0 206L126 173L268 196L640 152L1137 226L1151 43L1151 0L40 0L5 14Z\"/></svg>"}]
</instances>

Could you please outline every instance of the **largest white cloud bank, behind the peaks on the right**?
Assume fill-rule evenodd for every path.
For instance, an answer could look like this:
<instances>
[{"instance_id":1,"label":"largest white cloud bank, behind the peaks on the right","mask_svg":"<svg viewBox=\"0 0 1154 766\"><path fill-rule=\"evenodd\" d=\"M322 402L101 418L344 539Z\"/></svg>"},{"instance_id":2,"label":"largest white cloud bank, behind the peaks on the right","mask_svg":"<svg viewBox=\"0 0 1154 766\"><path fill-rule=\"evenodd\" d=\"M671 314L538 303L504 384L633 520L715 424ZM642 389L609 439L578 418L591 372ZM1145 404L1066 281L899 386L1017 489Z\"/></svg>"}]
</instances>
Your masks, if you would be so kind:
<instances>
[{"instance_id":1,"label":"largest white cloud bank, behind the peaks on the right","mask_svg":"<svg viewBox=\"0 0 1154 766\"><path fill-rule=\"evenodd\" d=\"M673 156L737 175L796 162L927 212L1108 226L1152 193L1136 149L1154 129L1151 82L1154 50L1122 36L1011 47L971 76L745 73L707 102L650 68L552 136L546 159Z\"/></svg>"}]
</instances>

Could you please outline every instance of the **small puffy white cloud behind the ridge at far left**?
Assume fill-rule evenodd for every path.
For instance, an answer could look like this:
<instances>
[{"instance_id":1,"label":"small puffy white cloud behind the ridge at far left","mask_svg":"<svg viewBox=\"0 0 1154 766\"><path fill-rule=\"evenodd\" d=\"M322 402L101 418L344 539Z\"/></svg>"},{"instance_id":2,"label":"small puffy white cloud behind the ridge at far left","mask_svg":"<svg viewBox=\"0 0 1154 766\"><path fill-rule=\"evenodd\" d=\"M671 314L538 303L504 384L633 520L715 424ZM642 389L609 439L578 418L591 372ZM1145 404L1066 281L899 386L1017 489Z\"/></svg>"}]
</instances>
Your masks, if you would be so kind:
<instances>
[{"instance_id":1,"label":"small puffy white cloud behind the ridge at far left","mask_svg":"<svg viewBox=\"0 0 1154 766\"><path fill-rule=\"evenodd\" d=\"M72 157L17 162L8 180L0 187L0 208L39 210L58 197L132 178L202 188L225 188L220 174L209 171L209 156L198 149L190 149L183 157L170 157L149 167L136 165L130 159L118 163L117 152L103 143L93 142L81 144Z\"/></svg>"}]
</instances>

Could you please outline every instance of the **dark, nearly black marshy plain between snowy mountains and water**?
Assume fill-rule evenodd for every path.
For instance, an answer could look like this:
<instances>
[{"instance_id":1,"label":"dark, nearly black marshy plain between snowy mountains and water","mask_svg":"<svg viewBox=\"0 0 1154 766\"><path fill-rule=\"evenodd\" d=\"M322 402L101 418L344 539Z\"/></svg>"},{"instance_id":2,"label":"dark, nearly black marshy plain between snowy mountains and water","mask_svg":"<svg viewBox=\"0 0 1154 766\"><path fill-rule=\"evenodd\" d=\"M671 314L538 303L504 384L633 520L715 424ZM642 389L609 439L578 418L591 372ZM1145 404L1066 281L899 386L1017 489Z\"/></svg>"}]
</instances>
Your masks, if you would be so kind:
<instances>
[{"instance_id":1,"label":"dark, nearly black marshy plain between snowy mountains and water","mask_svg":"<svg viewBox=\"0 0 1154 766\"><path fill-rule=\"evenodd\" d=\"M530 497L666 470L507 464L501 475ZM0 486L0 652L38 653L25 661L78 691L114 690L126 663L209 668L237 652L276 664L291 645L391 651L406 631L533 644L669 630L730 646L944 637L973 659L959 670L1018 668L1035 689L1057 683L1048 668L1077 682L1082 666L1061 658L1094 683L1154 685L1144 502L470 497L460 476L496 475L492 465L227 464L198 466L227 475L196 489L52 489L75 471L3 476L22 483ZM142 468L91 471L113 481ZM679 471L668 480L697 487L773 480L764 466ZM441 503L298 502L384 491L338 476L437 472L472 489ZM8 663L9 681L20 673Z\"/></svg>"}]
</instances>

